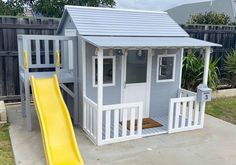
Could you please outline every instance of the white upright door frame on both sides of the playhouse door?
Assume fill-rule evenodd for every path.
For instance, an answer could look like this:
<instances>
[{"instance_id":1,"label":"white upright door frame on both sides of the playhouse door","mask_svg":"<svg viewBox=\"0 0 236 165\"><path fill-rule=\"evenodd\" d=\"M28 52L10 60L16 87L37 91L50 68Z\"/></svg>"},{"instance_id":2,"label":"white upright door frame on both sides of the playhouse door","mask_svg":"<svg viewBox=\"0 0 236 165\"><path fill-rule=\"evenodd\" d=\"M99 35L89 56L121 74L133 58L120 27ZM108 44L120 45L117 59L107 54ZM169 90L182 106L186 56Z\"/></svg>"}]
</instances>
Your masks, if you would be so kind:
<instances>
[{"instance_id":1,"label":"white upright door frame on both sides of the playhouse door","mask_svg":"<svg viewBox=\"0 0 236 165\"><path fill-rule=\"evenodd\" d=\"M126 52L128 50L123 50L123 52ZM147 58L147 92L146 92L146 112L147 116L150 115L150 95L151 95L151 75L152 75L152 49L148 49L148 58ZM126 64L127 64L127 55L124 53L121 59L121 103L124 102L124 87L125 87L125 76L126 76ZM134 84L135 85L135 84Z\"/></svg>"}]
</instances>

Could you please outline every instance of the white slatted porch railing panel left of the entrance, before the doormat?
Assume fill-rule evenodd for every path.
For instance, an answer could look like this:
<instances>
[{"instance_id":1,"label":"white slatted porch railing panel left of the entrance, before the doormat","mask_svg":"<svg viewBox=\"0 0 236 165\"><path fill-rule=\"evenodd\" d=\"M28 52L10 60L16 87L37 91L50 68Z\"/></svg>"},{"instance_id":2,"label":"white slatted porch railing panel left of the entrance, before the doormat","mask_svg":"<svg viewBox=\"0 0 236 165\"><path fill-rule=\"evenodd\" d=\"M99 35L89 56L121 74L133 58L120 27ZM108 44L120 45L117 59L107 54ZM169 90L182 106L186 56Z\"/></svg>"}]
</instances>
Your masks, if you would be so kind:
<instances>
[{"instance_id":1,"label":"white slatted porch railing panel left of the entrance, before the doormat","mask_svg":"<svg viewBox=\"0 0 236 165\"><path fill-rule=\"evenodd\" d=\"M102 144L141 138L143 103L103 106Z\"/></svg>"}]
</instances>

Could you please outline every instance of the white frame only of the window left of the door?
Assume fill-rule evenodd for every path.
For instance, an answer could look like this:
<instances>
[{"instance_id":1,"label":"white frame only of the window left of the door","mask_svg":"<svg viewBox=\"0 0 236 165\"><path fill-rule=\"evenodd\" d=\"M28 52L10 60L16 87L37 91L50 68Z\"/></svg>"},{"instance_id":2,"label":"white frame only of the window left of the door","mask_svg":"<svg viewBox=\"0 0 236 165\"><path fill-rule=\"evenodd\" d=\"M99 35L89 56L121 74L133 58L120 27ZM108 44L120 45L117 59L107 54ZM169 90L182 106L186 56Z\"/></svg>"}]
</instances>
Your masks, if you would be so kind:
<instances>
[{"instance_id":1,"label":"white frame only of the window left of the door","mask_svg":"<svg viewBox=\"0 0 236 165\"><path fill-rule=\"evenodd\" d=\"M92 57L92 67L93 67L93 73L92 73L92 80L93 80L93 87L97 87L98 85L95 83L95 60L98 59L97 56ZM115 56L103 56L104 59L112 59L112 83L103 84L104 87L109 86L115 86L115 78L116 78L116 57Z\"/></svg>"}]
</instances>

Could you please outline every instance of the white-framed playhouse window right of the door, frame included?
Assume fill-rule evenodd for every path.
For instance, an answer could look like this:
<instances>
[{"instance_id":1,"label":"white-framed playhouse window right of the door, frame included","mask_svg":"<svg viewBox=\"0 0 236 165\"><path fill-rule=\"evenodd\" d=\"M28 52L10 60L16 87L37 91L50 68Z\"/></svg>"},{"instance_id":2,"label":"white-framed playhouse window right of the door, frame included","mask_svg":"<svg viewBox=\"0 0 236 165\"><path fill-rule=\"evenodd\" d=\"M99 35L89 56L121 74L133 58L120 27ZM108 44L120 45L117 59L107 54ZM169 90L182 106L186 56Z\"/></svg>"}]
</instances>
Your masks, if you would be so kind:
<instances>
[{"instance_id":1,"label":"white-framed playhouse window right of the door, frame included","mask_svg":"<svg viewBox=\"0 0 236 165\"><path fill-rule=\"evenodd\" d=\"M157 82L175 81L176 55L157 56Z\"/></svg>"}]
</instances>

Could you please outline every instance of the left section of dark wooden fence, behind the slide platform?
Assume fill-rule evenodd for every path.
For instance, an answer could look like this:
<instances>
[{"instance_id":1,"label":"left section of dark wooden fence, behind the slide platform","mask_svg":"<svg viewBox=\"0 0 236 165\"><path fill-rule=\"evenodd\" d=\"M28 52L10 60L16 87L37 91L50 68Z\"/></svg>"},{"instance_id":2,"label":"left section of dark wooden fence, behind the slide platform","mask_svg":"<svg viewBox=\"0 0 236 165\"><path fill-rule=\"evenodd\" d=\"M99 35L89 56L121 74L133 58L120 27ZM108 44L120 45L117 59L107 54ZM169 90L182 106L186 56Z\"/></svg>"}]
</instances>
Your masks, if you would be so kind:
<instances>
[{"instance_id":1,"label":"left section of dark wooden fence, behind the slide platform","mask_svg":"<svg viewBox=\"0 0 236 165\"><path fill-rule=\"evenodd\" d=\"M0 100L19 95L17 35L53 35L58 23L58 19L0 17Z\"/></svg>"}]
</instances>

